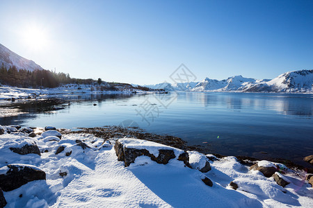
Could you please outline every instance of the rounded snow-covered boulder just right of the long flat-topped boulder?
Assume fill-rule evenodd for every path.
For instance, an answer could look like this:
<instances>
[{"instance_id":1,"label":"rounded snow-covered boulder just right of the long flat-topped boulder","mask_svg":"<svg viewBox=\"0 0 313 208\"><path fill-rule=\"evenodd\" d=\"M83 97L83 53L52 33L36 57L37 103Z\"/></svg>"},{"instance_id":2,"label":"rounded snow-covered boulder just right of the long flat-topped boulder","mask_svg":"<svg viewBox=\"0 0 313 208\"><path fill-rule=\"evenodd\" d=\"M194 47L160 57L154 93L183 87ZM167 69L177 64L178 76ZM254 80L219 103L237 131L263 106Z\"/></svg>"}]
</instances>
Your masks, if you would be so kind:
<instances>
[{"instance_id":1,"label":"rounded snow-covered boulder just right of the long flat-topped boulder","mask_svg":"<svg viewBox=\"0 0 313 208\"><path fill-rule=\"evenodd\" d=\"M207 173L211 170L209 159L206 155L197 151L187 151L189 155L189 164L193 169L198 169L202 173Z\"/></svg>"}]
</instances>

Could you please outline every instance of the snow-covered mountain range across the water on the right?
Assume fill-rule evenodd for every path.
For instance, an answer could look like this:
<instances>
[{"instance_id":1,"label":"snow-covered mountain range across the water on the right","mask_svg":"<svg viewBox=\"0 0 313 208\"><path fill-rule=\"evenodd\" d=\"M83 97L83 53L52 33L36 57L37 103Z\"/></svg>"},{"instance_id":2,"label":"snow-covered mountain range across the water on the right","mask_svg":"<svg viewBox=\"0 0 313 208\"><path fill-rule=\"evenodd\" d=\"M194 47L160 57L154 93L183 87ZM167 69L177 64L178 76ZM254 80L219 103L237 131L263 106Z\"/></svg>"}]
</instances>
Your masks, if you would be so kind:
<instances>
[{"instance_id":1,"label":"snow-covered mountain range across the water on the right","mask_svg":"<svg viewBox=\"0 0 313 208\"><path fill-rule=\"evenodd\" d=\"M225 80L205 78L195 83L160 83L146 85L152 89L192 92L309 92L313 93L313 70L289 71L277 78L257 80L232 76Z\"/></svg>"}]
</instances>

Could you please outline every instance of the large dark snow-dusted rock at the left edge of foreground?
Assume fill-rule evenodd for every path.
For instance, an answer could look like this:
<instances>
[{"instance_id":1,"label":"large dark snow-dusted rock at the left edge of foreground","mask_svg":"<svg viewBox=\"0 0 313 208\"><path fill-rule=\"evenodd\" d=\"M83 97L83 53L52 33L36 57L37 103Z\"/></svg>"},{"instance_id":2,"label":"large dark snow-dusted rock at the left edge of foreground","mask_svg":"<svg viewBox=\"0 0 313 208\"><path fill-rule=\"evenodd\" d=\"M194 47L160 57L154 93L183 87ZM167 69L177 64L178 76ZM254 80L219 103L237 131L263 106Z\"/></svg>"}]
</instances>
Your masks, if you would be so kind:
<instances>
[{"instance_id":1,"label":"large dark snow-dusted rock at the left edge of foreground","mask_svg":"<svg viewBox=\"0 0 313 208\"><path fill-rule=\"evenodd\" d=\"M3 191L12 191L33 180L46 180L46 173L36 166L26 164L9 164L0 168L0 187Z\"/></svg>"}]
</instances>

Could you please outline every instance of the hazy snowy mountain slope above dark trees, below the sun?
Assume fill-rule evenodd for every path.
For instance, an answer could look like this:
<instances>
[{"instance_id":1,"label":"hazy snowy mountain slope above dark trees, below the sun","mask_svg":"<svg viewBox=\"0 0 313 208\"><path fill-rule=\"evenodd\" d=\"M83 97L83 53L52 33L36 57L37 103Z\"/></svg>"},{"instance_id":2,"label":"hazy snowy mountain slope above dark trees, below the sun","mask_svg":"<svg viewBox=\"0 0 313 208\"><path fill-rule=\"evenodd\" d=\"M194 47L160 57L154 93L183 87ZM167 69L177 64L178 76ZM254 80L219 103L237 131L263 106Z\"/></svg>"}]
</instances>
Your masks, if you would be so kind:
<instances>
[{"instance_id":1,"label":"hazy snowy mountain slope above dark trees, below the sun","mask_svg":"<svg viewBox=\"0 0 313 208\"><path fill-rule=\"evenodd\" d=\"M26 58L22 58L22 56L17 55L13 51L10 51L8 48L0 44L0 66L4 65L7 69L15 65L17 70L26 69L29 71L33 71L35 69L42 69L40 65L36 64L32 60L27 60Z\"/></svg>"}]
</instances>

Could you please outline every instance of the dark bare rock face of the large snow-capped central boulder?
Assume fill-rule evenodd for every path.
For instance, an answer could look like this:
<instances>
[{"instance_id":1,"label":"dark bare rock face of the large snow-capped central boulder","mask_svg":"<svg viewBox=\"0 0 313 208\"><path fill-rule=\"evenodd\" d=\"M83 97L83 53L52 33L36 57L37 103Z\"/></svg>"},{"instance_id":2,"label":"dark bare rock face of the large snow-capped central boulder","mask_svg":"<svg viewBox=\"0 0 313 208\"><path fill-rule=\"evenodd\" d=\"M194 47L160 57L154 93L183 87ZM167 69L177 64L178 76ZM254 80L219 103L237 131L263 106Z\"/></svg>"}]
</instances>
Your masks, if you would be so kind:
<instances>
[{"instance_id":1,"label":"dark bare rock face of the large snow-capped central boulder","mask_svg":"<svg viewBox=\"0 0 313 208\"><path fill-rule=\"evenodd\" d=\"M125 166L129 166L131 163L135 162L136 157L145 155L150 157L152 161L159 164L168 164L170 159L175 158L175 153L173 150L159 150L158 157L150 154L148 150L145 149L135 149L135 148L124 148L123 145L119 142L115 142L115 153L118 156L119 161L124 161ZM184 159L184 156L181 157L181 160Z\"/></svg>"}]
</instances>

